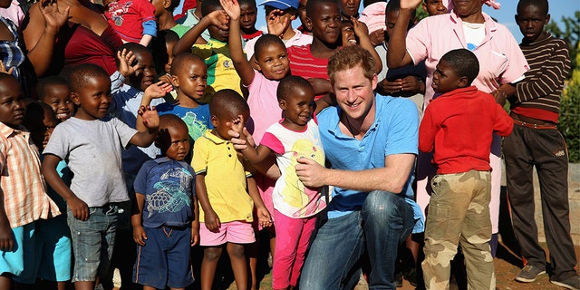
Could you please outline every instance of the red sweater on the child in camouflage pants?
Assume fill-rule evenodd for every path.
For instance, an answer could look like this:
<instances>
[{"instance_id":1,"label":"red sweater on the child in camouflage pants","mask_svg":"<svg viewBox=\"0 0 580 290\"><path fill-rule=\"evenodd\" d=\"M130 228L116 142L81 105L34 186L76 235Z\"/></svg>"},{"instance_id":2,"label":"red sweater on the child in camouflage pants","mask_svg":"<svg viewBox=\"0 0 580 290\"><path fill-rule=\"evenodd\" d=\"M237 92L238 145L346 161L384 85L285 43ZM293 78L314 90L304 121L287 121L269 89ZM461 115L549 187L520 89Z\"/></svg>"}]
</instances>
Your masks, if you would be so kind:
<instances>
[{"instance_id":1,"label":"red sweater on the child in camouflage pants","mask_svg":"<svg viewBox=\"0 0 580 290\"><path fill-rule=\"evenodd\" d=\"M507 136L514 122L492 95L475 86L430 102L419 127L419 150L433 150L438 174L490 170L492 133Z\"/></svg>"}]
</instances>

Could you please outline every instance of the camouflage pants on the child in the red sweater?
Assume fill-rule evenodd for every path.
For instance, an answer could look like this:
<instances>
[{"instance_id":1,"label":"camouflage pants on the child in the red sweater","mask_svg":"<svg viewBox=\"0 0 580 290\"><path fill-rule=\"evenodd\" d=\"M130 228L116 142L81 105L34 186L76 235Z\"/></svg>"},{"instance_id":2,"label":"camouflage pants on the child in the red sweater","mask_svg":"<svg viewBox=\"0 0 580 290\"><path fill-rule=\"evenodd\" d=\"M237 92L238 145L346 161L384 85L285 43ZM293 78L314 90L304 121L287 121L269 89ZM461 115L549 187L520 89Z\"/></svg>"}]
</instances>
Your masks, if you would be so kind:
<instances>
[{"instance_id":1,"label":"camouflage pants on the child in the red sweater","mask_svg":"<svg viewBox=\"0 0 580 290\"><path fill-rule=\"evenodd\" d=\"M459 243L465 256L469 289L496 289L490 253L488 171L436 175L425 224L423 278L427 289L449 289L450 261Z\"/></svg>"}]
</instances>

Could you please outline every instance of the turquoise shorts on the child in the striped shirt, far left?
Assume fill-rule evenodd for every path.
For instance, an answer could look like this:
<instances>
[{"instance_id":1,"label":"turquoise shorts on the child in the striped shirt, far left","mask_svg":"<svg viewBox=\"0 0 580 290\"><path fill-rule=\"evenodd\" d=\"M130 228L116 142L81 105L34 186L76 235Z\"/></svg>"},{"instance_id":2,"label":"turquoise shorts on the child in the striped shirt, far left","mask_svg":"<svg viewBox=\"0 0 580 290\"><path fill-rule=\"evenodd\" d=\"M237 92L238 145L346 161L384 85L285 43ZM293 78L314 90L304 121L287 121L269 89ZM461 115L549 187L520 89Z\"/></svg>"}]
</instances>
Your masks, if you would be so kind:
<instances>
[{"instance_id":1,"label":"turquoise shorts on the child in the striped shirt, far left","mask_svg":"<svg viewBox=\"0 0 580 290\"><path fill-rule=\"evenodd\" d=\"M0 273L11 274L11 278L24 284L34 284L34 223L12 228L14 248L12 251L0 251Z\"/></svg>"}]
</instances>

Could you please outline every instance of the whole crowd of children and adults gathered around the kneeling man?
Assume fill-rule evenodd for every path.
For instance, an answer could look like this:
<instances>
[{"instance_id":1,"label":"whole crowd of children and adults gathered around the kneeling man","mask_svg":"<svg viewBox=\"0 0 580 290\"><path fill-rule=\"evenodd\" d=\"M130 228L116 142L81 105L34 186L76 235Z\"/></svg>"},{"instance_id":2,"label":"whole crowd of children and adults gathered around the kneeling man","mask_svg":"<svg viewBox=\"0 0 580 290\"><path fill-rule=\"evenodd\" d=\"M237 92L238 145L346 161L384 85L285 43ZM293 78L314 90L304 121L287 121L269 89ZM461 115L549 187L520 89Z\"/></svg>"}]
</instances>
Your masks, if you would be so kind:
<instances>
[{"instance_id":1,"label":"whole crowd of children and adults gathered around the kneeling man","mask_svg":"<svg viewBox=\"0 0 580 290\"><path fill-rule=\"evenodd\" d=\"M362 14L359 0L197 0L181 19L177 0L67 1L41 0L22 27L0 16L0 290L112 289L113 268L122 289L209 290L225 275L224 249L237 289L256 290L258 247L272 257L273 289L348 288L361 268L370 288L404 276L446 289L458 252L463 286L495 289L498 136L524 260L516 280L547 272L580 290L556 129L570 59L544 31L547 0L519 0L519 47L481 12L498 7L491 0L365 1ZM418 24L421 4L430 17ZM102 46L71 59L80 33ZM78 41L76 54L92 43ZM385 187L357 183L415 160L417 203L411 165L377 181ZM530 223L533 167L549 264ZM408 208L401 237L371 225L384 208L367 195ZM366 238L369 255L389 258L324 239L345 220L362 228L353 245ZM344 265L320 256L333 243L352 250ZM323 261L333 265L310 273Z\"/></svg>"}]
</instances>

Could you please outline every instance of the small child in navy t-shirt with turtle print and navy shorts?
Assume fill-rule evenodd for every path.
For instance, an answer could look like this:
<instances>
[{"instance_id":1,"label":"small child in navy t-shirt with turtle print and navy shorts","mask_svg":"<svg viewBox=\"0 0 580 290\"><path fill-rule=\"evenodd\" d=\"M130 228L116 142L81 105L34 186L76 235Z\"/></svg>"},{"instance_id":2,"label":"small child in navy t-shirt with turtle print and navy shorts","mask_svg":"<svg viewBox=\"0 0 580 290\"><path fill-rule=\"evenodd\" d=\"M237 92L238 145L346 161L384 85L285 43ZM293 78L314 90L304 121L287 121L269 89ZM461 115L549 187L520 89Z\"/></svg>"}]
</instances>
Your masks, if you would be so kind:
<instances>
[{"instance_id":1,"label":"small child in navy t-shirt with turtle print and navy shorts","mask_svg":"<svg viewBox=\"0 0 580 290\"><path fill-rule=\"evenodd\" d=\"M193 283L190 247L199 239L195 174L183 161L189 153L185 122L175 115L160 116L155 145L162 157L145 162L135 179L139 211L131 223L139 247L133 281L144 290L185 289Z\"/></svg>"}]
</instances>

